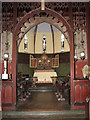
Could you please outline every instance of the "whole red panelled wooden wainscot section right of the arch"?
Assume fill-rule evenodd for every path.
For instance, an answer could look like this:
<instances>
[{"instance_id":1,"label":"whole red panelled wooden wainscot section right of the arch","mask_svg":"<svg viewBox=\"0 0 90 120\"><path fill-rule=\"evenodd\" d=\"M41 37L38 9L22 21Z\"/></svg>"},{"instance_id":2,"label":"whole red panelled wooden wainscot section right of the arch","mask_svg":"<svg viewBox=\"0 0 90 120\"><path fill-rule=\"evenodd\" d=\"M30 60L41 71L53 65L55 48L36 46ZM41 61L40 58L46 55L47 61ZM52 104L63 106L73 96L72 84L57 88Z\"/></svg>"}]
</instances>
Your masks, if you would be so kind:
<instances>
[{"instance_id":1,"label":"whole red panelled wooden wainscot section right of the arch","mask_svg":"<svg viewBox=\"0 0 90 120\"><path fill-rule=\"evenodd\" d=\"M74 80L74 104L77 104L77 108L81 108L82 106L85 107L85 99L90 94L90 81L89 80ZM74 94L73 93L73 94ZM82 104L82 106L81 106Z\"/></svg>"}]
</instances>

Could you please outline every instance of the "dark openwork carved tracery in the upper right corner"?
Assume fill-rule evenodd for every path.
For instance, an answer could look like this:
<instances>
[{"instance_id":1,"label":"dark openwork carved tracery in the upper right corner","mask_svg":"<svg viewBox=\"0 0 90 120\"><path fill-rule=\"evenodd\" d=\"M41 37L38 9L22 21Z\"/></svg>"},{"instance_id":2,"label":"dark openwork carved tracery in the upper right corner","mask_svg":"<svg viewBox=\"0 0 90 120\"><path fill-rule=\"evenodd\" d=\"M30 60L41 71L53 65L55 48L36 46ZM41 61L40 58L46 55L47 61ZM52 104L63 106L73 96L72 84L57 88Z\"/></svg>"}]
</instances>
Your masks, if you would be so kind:
<instances>
[{"instance_id":1,"label":"dark openwork carved tracery in the upper right corner","mask_svg":"<svg viewBox=\"0 0 90 120\"><path fill-rule=\"evenodd\" d=\"M74 31L77 29L86 29L86 8L84 2L73 3L73 25Z\"/></svg>"}]
</instances>

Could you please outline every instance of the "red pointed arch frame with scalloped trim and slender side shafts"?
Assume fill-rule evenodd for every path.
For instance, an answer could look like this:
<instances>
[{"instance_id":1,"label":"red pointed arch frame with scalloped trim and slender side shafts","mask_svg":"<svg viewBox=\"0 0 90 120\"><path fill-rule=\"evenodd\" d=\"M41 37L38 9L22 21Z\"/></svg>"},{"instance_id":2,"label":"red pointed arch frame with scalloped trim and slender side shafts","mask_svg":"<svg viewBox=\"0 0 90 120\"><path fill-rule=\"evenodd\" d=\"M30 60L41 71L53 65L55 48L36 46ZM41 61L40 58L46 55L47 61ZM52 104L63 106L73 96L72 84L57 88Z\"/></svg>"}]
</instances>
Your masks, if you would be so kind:
<instances>
[{"instance_id":1,"label":"red pointed arch frame with scalloped trim and slender side shafts","mask_svg":"<svg viewBox=\"0 0 90 120\"><path fill-rule=\"evenodd\" d=\"M17 69L17 46L20 44L21 39L25 35L25 33L31 29L33 26L41 23L47 22L55 27L57 27L60 31L63 32L66 39L70 44L70 75L71 75L71 104L73 104L73 79L74 79L74 42L73 42L73 30L71 29L68 22L64 19L63 16L56 13L53 10L45 8L45 10L41 10L38 8L27 13L23 18L21 18L20 22L16 25L13 32L13 56L12 56L12 79L13 79L13 103L16 104L16 69Z\"/></svg>"}]
</instances>

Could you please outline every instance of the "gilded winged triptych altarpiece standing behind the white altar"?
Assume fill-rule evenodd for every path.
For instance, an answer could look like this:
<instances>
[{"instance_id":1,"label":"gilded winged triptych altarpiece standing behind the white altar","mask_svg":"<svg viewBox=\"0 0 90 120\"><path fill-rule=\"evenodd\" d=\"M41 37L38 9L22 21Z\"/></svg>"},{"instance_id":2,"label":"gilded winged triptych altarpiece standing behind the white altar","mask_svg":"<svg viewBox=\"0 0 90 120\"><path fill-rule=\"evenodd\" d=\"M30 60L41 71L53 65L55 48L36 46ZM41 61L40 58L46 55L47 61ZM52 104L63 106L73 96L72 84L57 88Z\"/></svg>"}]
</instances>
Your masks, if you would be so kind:
<instances>
[{"instance_id":1,"label":"gilded winged triptych altarpiece standing behind the white altar","mask_svg":"<svg viewBox=\"0 0 90 120\"><path fill-rule=\"evenodd\" d=\"M40 58L30 55L30 68L51 69L56 67L59 67L59 55L56 55L55 58L48 58L45 54Z\"/></svg>"}]
</instances>

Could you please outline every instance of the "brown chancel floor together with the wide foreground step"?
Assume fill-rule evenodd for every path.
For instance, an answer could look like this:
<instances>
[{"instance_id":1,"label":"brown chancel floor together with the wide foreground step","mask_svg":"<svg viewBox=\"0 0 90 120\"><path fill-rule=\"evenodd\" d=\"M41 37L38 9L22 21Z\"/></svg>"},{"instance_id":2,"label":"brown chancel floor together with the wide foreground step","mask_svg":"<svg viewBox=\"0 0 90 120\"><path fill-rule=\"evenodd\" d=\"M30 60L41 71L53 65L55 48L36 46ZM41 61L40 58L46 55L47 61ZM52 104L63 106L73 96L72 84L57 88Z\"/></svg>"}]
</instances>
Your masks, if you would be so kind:
<instances>
[{"instance_id":1,"label":"brown chancel floor together with the wide foreground step","mask_svg":"<svg viewBox=\"0 0 90 120\"><path fill-rule=\"evenodd\" d=\"M85 113L70 110L68 99L58 101L55 92L32 92L16 111L4 111L2 120L85 120Z\"/></svg>"}]
</instances>

